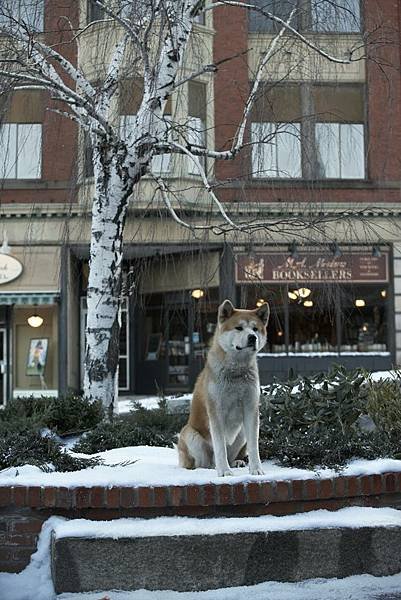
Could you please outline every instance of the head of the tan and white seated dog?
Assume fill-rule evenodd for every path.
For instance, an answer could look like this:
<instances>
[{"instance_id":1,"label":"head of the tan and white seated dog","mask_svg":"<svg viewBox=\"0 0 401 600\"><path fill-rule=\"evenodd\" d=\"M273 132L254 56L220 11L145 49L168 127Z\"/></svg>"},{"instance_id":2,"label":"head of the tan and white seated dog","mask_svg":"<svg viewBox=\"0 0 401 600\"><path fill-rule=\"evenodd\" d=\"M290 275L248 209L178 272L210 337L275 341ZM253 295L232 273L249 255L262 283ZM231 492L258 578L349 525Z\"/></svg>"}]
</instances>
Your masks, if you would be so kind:
<instances>
[{"instance_id":1,"label":"head of the tan and white seated dog","mask_svg":"<svg viewBox=\"0 0 401 600\"><path fill-rule=\"evenodd\" d=\"M218 312L218 343L225 352L253 354L266 343L266 326L270 308L267 302L255 310L234 308L224 300Z\"/></svg>"}]
</instances>

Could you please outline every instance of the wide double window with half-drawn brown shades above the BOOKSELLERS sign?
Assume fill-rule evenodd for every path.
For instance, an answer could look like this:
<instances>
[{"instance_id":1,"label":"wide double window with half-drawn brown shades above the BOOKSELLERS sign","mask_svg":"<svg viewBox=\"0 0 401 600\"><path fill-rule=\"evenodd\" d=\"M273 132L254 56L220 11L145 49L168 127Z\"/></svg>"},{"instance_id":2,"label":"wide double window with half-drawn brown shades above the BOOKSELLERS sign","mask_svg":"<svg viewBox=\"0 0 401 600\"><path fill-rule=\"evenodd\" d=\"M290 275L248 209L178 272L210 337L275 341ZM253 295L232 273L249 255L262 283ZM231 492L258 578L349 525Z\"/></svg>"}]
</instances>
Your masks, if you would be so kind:
<instances>
[{"instance_id":1,"label":"wide double window with half-drawn brown shades above the BOOKSELLERS sign","mask_svg":"<svg viewBox=\"0 0 401 600\"><path fill-rule=\"evenodd\" d=\"M277 85L251 121L253 178L365 177L362 85Z\"/></svg>"}]
</instances>

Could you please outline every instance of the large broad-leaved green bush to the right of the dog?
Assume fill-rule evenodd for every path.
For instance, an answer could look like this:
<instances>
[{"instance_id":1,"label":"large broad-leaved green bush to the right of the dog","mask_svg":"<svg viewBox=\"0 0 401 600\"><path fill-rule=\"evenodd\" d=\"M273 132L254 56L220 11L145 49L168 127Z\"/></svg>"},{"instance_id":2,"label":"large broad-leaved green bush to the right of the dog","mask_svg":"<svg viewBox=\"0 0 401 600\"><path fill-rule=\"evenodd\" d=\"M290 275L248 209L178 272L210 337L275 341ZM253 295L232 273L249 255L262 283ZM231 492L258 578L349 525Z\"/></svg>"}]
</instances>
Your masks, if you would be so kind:
<instances>
[{"instance_id":1,"label":"large broad-leaved green bush to the right of the dog","mask_svg":"<svg viewBox=\"0 0 401 600\"><path fill-rule=\"evenodd\" d=\"M372 418L374 431L361 430L363 415ZM261 400L261 456L287 466L334 469L354 457L399 458L401 437L394 432L401 429L400 417L400 386L373 383L362 369L336 367L273 384Z\"/></svg>"}]
</instances>

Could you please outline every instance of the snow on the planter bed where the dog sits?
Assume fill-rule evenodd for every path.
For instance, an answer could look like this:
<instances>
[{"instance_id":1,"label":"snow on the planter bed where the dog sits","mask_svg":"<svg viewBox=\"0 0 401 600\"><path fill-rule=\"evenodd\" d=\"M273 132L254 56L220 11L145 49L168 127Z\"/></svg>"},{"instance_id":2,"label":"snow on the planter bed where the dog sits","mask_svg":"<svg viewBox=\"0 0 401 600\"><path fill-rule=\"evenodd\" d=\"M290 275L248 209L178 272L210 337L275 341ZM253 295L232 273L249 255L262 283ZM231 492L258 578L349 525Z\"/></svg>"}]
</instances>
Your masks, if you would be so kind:
<instances>
[{"instance_id":1,"label":"snow on the planter bed where the dog sits","mask_svg":"<svg viewBox=\"0 0 401 600\"><path fill-rule=\"evenodd\" d=\"M77 454L77 456L87 456ZM99 452L97 456L104 459L105 464L72 471L70 473L45 473L39 467L24 465L10 467L0 472L0 486L32 485L32 486L155 486L155 485L190 485L206 483L239 483L247 481L281 481L287 479L310 479L334 477L332 469L311 471L291 467L281 467L272 460L265 461L265 475L250 475L247 467L233 469L234 476L222 479L217 477L214 469L188 470L178 466L177 452L173 448L156 448L151 446L132 446L115 448ZM129 464L121 464L129 462ZM401 471L401 460L380 458L376 460L355 459L341 471L341 475L369 475Z\"/></svg>"}]
</instances>

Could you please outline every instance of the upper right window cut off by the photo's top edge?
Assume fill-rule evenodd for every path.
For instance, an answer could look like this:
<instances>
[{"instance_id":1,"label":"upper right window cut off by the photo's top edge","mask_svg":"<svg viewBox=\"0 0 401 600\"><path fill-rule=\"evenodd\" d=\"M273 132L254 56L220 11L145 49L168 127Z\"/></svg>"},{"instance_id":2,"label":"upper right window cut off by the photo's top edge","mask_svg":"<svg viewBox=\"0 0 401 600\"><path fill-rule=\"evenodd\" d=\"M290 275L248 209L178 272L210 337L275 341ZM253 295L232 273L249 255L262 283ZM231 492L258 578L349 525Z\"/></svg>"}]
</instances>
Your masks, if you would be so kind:
<instances>
[{"instance_id":1,"label":"upper right window cut off by the photo's top edge","mask_svg":"<svg viewBox=\"0 0 401 600\"><path fill-rule=\"evenodd\" d=\"M291 25L299 31L353 33L361 29L360 0L252 0L252 4L287 21L295 9ZM250 10L249 31L276 33L275 23L258 11Z\"/></svg>"}]
</instances>

